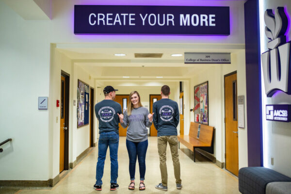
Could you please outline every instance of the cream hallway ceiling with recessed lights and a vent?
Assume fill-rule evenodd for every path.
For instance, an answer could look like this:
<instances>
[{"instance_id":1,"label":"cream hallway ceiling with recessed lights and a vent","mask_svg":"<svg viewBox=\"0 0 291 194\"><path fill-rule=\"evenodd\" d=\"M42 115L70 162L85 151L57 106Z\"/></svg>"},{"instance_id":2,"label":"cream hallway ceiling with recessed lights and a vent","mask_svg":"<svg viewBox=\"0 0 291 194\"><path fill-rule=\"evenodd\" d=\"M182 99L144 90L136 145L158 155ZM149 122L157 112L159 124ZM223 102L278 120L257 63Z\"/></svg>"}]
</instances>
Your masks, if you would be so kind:
<instances>
[{"instance_id":1,"label":"cream hallway ceiling with recessed lights and a vent","mask_svg":"<svg viewBox=\"0 0 291 194\"><path fill-rule=\"evenodd\" d=\"M184 64L184 52L236 53L244 45L234 44L164 44L164 43L80 43L57 44L57 50L100 81L130 79L189 79L195 74L221 64ZM124 53L126 56L114 56ZM162 53L162 58L135 58L134 53ZM172 57L171 54L183 54Z\"/></svg>"}]
</instances>

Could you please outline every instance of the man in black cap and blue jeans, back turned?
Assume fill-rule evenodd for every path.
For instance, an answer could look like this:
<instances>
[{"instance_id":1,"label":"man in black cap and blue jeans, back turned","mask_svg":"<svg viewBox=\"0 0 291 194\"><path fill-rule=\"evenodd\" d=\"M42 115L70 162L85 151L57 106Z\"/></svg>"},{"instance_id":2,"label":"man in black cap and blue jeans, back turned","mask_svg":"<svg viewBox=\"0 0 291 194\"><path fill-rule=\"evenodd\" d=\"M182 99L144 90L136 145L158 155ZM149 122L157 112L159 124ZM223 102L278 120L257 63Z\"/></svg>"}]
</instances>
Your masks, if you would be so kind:
<instances>
[{"instance_id":1,"label":"man in black cap and blue jeans, back turned","mask_svg":"<svg viewBox=\"0 0 291 194\"><path fill-rule=\"evenodd\" d=\"M102 177L104 170L104 162L106 158L107 148L110 150L111 160L111 186L110 190L118 189L118 162L117 151L119 143L118 123L121 114L121 106L119 103L113 101L115 99L115 90L112 86L106 86L103 90L105 99L95 105L95 113L99 121L99 141L98 141L98 162L96 167L96 183L94 188L101 191Z\"/></svg>"}]
</instances>

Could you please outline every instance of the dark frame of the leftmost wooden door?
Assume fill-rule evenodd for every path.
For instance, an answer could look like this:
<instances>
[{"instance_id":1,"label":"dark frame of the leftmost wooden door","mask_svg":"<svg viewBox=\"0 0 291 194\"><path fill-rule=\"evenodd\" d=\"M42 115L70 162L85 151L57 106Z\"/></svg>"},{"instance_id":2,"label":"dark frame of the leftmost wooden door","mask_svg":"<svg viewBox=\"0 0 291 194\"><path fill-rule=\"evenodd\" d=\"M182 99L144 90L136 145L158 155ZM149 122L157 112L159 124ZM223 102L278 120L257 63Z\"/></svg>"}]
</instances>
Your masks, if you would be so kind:
<instances>
[{"instance_id":1,"label":"dark frame of the leftmost wooden door","mask_svg":"<svg viewBox=\"0 0 291 194\"><path fill-rule=\"evenodd\" d=\"M61 76L65 76L65 153L64 153L64 170L69 169L69 100L70 100L70 74L61 70Z\"/></svg>"}]
</instances>

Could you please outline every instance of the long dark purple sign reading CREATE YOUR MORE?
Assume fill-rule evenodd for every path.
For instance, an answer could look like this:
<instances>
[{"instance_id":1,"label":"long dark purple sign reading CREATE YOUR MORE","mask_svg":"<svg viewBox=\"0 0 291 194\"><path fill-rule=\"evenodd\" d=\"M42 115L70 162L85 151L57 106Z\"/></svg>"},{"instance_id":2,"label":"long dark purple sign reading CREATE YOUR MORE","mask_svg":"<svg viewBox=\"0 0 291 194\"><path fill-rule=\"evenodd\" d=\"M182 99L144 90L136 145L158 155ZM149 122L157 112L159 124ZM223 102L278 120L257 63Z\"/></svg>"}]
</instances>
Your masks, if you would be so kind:
<instances>
[{"instance_id":1,"label":"long dark purple sign reading CREATE YOUR MORE","mask_svg":"<svg viewBox=\"0 0 291 194\"><path fill-rule=\"evenodd\" d=\"M75 5L74 33L229 35L229 7Z\"/></svg>"}]
</instances>

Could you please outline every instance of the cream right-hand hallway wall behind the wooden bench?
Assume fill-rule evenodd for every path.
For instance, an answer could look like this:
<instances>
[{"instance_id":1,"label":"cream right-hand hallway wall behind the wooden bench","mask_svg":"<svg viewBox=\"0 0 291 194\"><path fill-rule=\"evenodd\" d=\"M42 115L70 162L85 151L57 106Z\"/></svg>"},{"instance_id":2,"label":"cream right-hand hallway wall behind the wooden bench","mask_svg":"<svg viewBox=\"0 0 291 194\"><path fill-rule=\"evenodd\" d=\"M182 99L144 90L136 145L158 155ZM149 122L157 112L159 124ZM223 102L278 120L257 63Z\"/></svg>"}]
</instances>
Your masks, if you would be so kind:
<instances>
[{"instance_id":1,"label":"cream right-hand hallway wall behind the wooden bench","mask_svg":"<svg viewBox=\"0 0 291 194\"><path fill-rule=\"evenodd\" d=\"M191 107L194 107L194 86L205 81L209 85L209 125L215 127L214 156L219 162L225 162L225 102L224 102L224 75L237 71L238 96L246 97L245 86L245 52L244 50L231 54L231 64L214 65L193 77L190 82ZM246 99L246 98L245 98ZM245 105L246 107L246 102ZM191 121L194 122L194 112L191 112ZM246 124L246 113L245 113ZM239 168L247 166L247 127L239 128ZM189 133L189 129L188 129Z\"/></svg>"}]
</instances>

